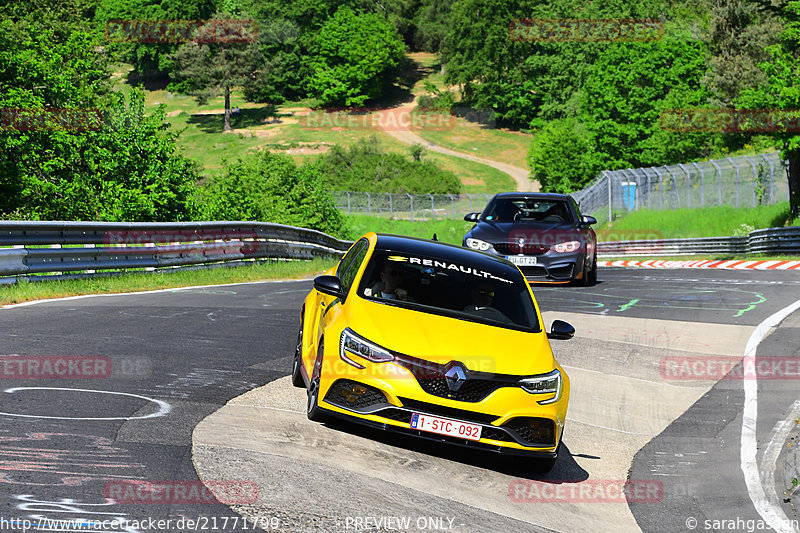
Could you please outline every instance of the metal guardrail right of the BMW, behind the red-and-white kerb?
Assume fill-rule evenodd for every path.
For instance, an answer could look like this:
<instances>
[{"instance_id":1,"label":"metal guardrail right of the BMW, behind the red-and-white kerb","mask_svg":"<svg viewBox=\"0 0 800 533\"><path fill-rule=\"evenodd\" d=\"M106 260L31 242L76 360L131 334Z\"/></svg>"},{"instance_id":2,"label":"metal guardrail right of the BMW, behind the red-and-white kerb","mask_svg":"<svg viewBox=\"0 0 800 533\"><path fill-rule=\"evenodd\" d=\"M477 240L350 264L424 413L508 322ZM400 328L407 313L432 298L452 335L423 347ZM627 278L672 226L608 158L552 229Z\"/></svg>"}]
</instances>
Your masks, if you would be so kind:
<instances>
[{"instance_id":1,"label":"metal guardrail right of the BMW, behind the red-and-white kerb","mask_svg":"<svg viewBox=\"0 0 800 533\"><path fill-rule=\"evenodd\" d=\"M597 243L603 257L699 254L800 254L800 226L751 231L741 237L606 241Z\"/></svg>"}]
</instances>

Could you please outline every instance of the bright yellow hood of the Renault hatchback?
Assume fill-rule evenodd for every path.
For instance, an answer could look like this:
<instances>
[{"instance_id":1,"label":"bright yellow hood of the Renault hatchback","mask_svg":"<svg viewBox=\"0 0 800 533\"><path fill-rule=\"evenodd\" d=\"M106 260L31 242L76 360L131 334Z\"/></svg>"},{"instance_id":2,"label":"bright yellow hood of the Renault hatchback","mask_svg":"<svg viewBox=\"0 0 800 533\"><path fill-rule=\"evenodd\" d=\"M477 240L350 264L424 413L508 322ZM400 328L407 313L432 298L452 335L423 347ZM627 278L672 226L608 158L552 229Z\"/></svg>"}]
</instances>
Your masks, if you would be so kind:
<instances>
[{"instance_id":1,"label":"bright yellow hood of the Renault hatchback","mask_svg":"<svg viewBox=\"0 0 800 533\"><path fill-rule=\"evenodd\" d=\"M353 302L356 304L356 302ZM389 350L470 370L544 374L555 368L544 330L516 331L358 298L350 329Z\"/></svg>"}]
</instances>

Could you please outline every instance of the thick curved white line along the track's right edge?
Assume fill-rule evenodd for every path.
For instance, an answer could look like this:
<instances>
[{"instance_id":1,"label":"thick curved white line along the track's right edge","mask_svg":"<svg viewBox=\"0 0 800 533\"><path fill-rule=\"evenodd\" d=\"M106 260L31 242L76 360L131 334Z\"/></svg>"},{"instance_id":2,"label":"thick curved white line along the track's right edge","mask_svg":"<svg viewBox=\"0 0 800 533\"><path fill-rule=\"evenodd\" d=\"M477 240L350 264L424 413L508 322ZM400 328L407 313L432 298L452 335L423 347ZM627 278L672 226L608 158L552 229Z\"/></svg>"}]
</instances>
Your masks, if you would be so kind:
<instances>
[{"instance_id":1,"label":"thick curved white line along the track's right edge","mask_svg":"<svg viewBox=\"0 0 800 533\"><path fill-rule=\"evenodd\" d=\"M787 316L800 309L800 300L796 301L788 307L784 307L777 313L767 317L761 322L750 339L747 341L747 347L744 352L744 359L742 365L747 368L748 365L755 364L756 350L758 345L764 340L764 337L769 333L770 328L777 326ZM770 499L767 498L764 492L764 486L761 483L761 475L758 469L758 460L756 454L758 453L758 440L756 439L756 422L758 421L758 379L754 376L753 379L744 380L744 409L742 411L742 440L741 440L741 467L744 474L744 481L747 485L747 492L750 496L750 501L756 511L767 524L770 525L775 531L781 533L792 533L791 522L786 517L783 510L772 504ZM774 483L769 483L774 490Z\"/></svg>"}]
</instances>

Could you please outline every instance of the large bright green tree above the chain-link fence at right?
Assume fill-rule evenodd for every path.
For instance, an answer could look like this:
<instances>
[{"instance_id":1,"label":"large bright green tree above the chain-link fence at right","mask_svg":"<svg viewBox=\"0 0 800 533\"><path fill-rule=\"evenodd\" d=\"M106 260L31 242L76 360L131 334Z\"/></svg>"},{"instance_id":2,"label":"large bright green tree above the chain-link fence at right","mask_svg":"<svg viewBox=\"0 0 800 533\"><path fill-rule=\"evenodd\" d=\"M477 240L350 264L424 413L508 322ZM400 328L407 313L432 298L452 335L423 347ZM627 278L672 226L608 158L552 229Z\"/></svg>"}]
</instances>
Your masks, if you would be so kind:
<instances>
[{"instance_id":1,"label":"large bright green tree above the chain-link fence at right","mask_svg":"<svg viewBox=\"0 0 800 533\"><path fill-rule=\"evenodd\" d=\"M704 43L680 35L607 46L587 76L580 112L603 168L666 165L711 153L712 134L670 131L660 120L671 109L708 105L705 61Z\"/></svg>"}]
</instances>

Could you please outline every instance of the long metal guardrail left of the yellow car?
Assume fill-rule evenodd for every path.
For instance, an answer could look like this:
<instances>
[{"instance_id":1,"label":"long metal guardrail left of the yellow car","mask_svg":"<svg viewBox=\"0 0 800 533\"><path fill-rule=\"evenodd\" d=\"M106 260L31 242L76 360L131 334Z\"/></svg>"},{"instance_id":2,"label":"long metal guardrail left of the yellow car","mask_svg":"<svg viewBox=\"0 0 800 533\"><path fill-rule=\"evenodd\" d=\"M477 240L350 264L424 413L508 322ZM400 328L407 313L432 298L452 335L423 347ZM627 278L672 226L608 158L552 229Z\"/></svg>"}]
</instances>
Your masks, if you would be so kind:
<instances>
[{"instance_id":1,"label":"long metal guardrail left of the yellow car","mask_svg":"<svg viewBox=\"0 0 800 533\"><path fill-rule=\"evenodd\" d=\"M266 222L0 222L0 276L10 276L0 283L338 257L350 244L316 230Z\"/></svg>"}]
</instances>

